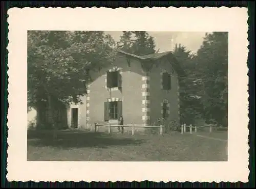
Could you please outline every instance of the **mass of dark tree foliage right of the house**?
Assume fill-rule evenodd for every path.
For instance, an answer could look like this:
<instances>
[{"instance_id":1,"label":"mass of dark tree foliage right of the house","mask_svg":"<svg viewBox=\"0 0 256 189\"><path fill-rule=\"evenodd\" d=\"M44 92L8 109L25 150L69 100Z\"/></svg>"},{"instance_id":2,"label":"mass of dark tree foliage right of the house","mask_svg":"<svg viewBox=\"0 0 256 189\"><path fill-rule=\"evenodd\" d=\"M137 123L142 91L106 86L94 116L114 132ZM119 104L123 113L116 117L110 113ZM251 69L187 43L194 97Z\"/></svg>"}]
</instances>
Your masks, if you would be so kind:
<instances>
[{"instance_id":1,"label":"mass of dark tree foliage right of the house","mask_svg":"<svg viewBox=\"0 0 256 189\"><path fill-rule=\"evenodd\" d=\"M179 78L182 121L193 123L200 114L207 123L227 126L228 34L206 34L197 55L184 46L174 55L186 73Z\"/></svg>"}]
</instances>

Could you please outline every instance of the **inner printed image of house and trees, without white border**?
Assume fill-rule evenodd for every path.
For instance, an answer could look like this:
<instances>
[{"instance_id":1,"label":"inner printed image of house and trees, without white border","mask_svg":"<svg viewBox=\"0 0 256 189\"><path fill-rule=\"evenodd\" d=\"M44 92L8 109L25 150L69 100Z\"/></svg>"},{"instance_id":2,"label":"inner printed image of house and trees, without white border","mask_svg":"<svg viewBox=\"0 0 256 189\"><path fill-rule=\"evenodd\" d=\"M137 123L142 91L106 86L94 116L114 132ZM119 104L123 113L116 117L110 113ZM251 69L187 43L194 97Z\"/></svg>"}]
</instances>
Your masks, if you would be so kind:
<instances>
[{"instance_id":1,"label":"inner printed image of house and trees, without white border","mask_svg":"<svg viewBox=\"0 0 256 189\"><path fill-rule=\"evenodd\" d=\"M228 32L28 31L33 161L227 161Z\"/></svg>"}]
</instances>

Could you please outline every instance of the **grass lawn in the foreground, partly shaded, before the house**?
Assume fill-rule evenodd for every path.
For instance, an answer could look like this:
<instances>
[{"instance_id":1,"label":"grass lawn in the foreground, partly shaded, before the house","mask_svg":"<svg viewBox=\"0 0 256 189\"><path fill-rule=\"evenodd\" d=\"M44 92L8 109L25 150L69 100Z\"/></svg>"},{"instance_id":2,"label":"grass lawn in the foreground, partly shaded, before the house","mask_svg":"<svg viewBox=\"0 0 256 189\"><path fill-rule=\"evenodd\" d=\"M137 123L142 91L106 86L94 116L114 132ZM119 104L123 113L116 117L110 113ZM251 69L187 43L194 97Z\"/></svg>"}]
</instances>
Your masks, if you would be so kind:
<instances>
[{"instance_id":1,"label":"grass lawn in the foreground, partly shaded, before the house","mask_svg":"<svg viewBox=\"0 0 256 189\"><path fill-rule=\"evenodd\" d=\"M32 161L226 161L227 132L160 136L88 131L28 131ZM50 137L49 137L50 136ZM215 140L221 139L221 140Z\"/></svg>"}]
</instances>

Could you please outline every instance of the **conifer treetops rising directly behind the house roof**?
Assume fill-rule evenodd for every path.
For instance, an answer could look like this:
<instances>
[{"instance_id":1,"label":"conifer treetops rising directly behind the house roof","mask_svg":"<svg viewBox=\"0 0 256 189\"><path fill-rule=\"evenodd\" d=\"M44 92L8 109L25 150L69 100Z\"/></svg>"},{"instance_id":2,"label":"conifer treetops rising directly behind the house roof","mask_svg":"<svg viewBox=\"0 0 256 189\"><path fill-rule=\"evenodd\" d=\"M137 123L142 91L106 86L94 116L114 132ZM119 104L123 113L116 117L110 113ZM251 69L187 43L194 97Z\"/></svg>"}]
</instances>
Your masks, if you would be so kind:
<instances>
[{"instance_id":1,"label":"conifer treetops rising directly behind the house roof","mask_svg":"<svg viewBox=\"0 0 256 189\"><path fill-rule=\"evenodd\" d=\"M117 44L119 49L138 56L156 52L154 38L144 31L123 32Z\"/></svg>"}]
</instances>

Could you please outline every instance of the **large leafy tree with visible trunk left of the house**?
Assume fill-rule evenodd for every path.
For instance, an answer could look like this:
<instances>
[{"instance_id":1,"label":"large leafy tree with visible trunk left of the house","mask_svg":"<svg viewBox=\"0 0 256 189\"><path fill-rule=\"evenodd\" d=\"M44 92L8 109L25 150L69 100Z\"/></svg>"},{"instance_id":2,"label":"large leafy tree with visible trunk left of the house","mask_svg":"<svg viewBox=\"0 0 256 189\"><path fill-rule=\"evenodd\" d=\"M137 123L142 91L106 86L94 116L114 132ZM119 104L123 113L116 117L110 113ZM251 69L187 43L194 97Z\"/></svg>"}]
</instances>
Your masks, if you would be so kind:
<instances>
[{"instance_id":1,"label":"large leafy tree with visible trunk left of the house","mask_svg":"<svg viewBox=\"0 0 256 189\"><path fill-rule=\"evenodd\" d=\"M113 60L114 41L103 32L29 31L28 104L47 102L47 122L55 128L56 104L81 103L89 71Z\"/></svg>"}]
</instances>

